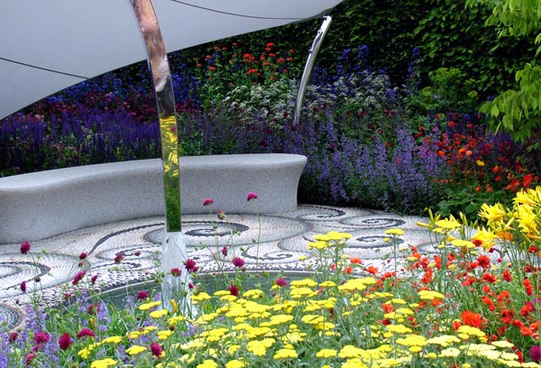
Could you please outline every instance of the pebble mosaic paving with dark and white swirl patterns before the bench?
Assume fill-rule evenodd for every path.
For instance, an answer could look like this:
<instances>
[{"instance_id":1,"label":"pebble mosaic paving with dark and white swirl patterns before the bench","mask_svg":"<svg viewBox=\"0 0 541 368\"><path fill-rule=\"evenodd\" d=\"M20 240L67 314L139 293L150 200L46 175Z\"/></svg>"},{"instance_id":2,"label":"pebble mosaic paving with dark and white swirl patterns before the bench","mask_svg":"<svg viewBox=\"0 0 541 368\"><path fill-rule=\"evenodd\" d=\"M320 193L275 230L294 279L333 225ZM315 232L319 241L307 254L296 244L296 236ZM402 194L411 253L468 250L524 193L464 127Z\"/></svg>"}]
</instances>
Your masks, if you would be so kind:
<instances>
[{"instance_id":1,"label":"pebble mosaic paving with dark and white swirl patterns before the bench","mask_svg":"<svg viewBox=\"0 0 541 368\"><path fill-rule=\"evenodd\" d=\"M345 253L361 258L365 266L385 271L394 267L386 260L392 253L390 243L383 240L386 229L401 228L401 245L429 252L430 238L426 229L416 225L418 221L427 220L361 208L299 205L292 212L228 215L225 220L211 214L187 215L182 217L182 232L188 257L201 271L217 270L215 259L224 259L224 246L228 249L225 268L233 267L231 260L238 256L247 270L257 266L268 271L307 271L315 261L307 243L314 235L332 230L353 235ZM16 327L22 322L23 306L29 303L32 290L39 290L43 303L62 300L81 270L80 253L87 253L83 267L98 275L96 284L102 290L150 280L158 270L163 224L163 217L147 217L97 225L34 241L28 254L21 254L20 244L0 244L0 323ZM118 253L124 259L115 263ZM300 261L302 256L306 260ZM26 293L21 290L22 281L26 281Z\"/></svg>"}]
</instances>

